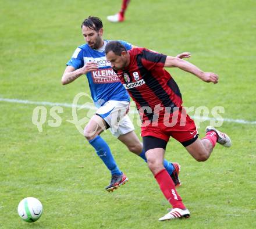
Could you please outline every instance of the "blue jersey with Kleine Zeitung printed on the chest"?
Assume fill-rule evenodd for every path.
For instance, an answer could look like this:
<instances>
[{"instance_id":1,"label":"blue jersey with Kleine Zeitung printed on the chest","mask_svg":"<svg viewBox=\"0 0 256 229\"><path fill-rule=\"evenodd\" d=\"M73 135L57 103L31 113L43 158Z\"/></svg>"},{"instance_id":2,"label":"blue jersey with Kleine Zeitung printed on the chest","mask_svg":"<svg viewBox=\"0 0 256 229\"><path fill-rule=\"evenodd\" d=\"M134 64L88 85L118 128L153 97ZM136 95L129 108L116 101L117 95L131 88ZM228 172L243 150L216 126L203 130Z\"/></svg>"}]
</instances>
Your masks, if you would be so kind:
<instances>
[{"instance_id":1,"label":"blue jersey with Kleine Zeitung printed on the chest","mask_svg":"<svg viewBox=\"0 0 256 229\"><path fill-rule=\"evenodd\" d=\"M106 60L105 45L109 40L104 40L104 47L102 49L92 49L88 44L79 46L74 51L72 58L66 65L80 69L87 62L96 62L98 69L90 71L86 74L89 82L91 96L97 107L104 105L109 100L116 101L130 101L130 96L126 89L119 81L111 67L111 63ZM125 41L119 41L126 47L127 50L131 49L131 44Z\"/></svg>"}]
</instances>

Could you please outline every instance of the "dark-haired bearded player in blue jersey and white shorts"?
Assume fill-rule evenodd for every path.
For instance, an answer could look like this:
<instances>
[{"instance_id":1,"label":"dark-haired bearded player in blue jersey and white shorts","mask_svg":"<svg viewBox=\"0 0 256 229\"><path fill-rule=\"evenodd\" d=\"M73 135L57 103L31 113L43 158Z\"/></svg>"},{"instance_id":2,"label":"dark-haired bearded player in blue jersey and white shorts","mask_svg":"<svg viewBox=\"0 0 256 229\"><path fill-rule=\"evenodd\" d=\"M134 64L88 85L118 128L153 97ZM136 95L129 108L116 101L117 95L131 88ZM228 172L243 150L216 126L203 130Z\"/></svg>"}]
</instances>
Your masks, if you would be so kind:
<instances>
[{"instance_id":1,"label":"dark-haired bearded player in blue jersey and white shorts","mask_svg":"<svg viewBox=\"0 0 256 229\"><path fill-rule=\"evenodd\" d=\"M111 63L106 60L105 46L109 40L102 39L103 25L101 19L93 16L88 17L81 24L81 30L86 44L79 46L67 62L67 67L62 76L62 84L72 83L84 74L87 76L91 96L98 110L84 128L84 137L111 171L111 182L106 190L113 191L120 185L125 184L128 178L119 169L111 149L100 136L102 131L110 128L111 133L123 142L129 151L136 153L146 161L145 152L127 115L130 96L112 70ZM125 41L120 42L127 50L133 48L131 44ZM182 53L177 57L189 56L190 53ZM170 163L167 160L164 160L163 164L175 185L179 186L180 165Z\"/></svg>"}]
</instances>

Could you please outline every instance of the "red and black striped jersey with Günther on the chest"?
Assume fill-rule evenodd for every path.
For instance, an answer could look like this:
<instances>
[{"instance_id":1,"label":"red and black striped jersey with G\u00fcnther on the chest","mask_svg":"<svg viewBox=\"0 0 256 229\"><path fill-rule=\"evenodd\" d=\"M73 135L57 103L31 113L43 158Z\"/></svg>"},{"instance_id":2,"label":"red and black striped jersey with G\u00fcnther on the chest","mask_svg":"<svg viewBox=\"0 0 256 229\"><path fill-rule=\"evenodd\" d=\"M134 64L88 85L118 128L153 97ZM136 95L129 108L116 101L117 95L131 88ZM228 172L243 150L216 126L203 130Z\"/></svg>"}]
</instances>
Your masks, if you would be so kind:
<instances>
[{"instance_id":1,"label":"red and black striped jersey with G\u00fcnther on the chest","mask_svg":"<svg viewBox=\"0 0 256 229\"><path fill-rule=\"evenodd\" d=\"M143 120L153 119L157 106L173 108L182 106L182 94L175 80L163 67L166 55L145 48L128 51L130 63L116 73L121 83L136 103Z\"/></svg>"}]
</instances>

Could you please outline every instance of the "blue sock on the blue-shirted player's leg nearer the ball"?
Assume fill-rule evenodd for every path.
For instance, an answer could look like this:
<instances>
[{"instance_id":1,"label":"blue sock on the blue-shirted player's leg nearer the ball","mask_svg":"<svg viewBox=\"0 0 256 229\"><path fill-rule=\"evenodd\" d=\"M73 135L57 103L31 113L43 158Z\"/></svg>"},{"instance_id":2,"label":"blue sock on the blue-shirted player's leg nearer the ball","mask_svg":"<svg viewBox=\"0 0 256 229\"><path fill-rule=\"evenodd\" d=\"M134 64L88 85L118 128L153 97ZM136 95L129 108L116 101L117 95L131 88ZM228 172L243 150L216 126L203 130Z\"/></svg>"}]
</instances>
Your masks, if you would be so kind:
<instances>
[{"instance_id":1,"label":"blue sock on the blue-shirted player's leg nearer the ball","mask_svg":"<svg viewBox=\"0 0 256 229\"><path fill-rule=\"evenodd\" d=\"M111 150L99 135L95 137L94 139L91 139L89 143L93 146L95 149L97 155L101 160L104 162L106 167L108 167L109 171L111 171L111 174L117 174L121 175L122 171L120 171L118 165L115 162L115 159L112 156Z\"/></svg>"}]
</instances>

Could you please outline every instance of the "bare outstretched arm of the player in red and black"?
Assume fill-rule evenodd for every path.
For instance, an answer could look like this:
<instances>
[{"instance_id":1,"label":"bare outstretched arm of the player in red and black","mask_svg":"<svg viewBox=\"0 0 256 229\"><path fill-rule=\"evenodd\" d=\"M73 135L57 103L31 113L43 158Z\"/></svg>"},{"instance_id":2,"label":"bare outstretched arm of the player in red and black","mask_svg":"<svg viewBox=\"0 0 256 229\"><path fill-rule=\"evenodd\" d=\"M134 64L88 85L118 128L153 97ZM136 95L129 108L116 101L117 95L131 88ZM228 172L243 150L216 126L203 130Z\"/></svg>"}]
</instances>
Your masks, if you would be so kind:
<instances>
[{"instance_id":1,"label":"bare outstretched arm of the player in red and black","mask_svg":"<svg viewBox=\"0 0 256 229\"><path fill-rule=\"evenodd\" d=\"M179 59L177 57L167 56L165 60L165 67L179 67L179 69L194 74L202 81L205 81L207 83L212 82L214 84L218 83L219 77L217 74L211 72L204 72L192 63L187 62L183 59Z\"/></svg>"}]
</instances>

